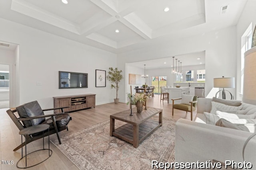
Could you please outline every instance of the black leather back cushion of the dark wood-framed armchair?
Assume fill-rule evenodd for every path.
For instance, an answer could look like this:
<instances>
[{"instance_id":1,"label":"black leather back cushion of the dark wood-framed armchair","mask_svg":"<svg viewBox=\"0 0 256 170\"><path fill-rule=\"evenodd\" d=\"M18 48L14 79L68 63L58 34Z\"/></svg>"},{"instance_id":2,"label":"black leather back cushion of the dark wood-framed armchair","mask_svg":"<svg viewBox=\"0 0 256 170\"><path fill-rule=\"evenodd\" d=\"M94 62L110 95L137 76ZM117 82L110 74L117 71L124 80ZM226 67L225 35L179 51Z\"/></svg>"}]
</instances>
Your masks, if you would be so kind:
<instances>
[{"instance_id":1,"label":"black leather back cushion of the dark wood-framed armchair","mask_svg":"<svg viewBox=\"0 0 256 170\"><path fill-rule=\"evenodd\" d=\"M18 106L16 107L16 110L18 111L18 115L20 116L20 118L44 115L44 112L37 101L29 102L21 106ZM39 125L44 121L45 121L45 118L38 118L38 119L32 119L32 120L25 120L25 121L22 121L22 123L25 127L30 127L32 125L33 126Z\"/></svg>"}]
</instances>

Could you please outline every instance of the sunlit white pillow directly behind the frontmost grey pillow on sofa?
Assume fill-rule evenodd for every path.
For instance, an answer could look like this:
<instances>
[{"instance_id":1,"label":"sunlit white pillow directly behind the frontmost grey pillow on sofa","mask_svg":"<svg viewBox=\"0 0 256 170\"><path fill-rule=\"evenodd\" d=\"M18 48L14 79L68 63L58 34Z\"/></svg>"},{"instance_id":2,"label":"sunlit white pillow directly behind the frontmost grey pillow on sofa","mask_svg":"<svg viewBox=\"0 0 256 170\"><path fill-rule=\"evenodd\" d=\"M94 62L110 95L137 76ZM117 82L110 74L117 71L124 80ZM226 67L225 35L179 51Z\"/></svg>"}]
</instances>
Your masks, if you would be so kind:
<instances>
[{"instance_id":1,"label":"sunlit white pillow directly behind the frontmost grey pillow on sofa","mask_svg":"<svg viewBox=\"0 0 256 170\"><path fill-rule=\"evenodd\" d=\"M231 123L237 123L237 124L247 124L247 123L251 123L251 124L256 124L256 119L234 119L234 118L230 118L230 117L224 117L224 116L220 116L220 115L215 115L212 113L208 113L208 112L204 112L204 117L206 118L206 123L210 124L210 125L215 125L216 122L223 118L226 119L227 121L230 121Z\"/></svg>"}]
</instances>

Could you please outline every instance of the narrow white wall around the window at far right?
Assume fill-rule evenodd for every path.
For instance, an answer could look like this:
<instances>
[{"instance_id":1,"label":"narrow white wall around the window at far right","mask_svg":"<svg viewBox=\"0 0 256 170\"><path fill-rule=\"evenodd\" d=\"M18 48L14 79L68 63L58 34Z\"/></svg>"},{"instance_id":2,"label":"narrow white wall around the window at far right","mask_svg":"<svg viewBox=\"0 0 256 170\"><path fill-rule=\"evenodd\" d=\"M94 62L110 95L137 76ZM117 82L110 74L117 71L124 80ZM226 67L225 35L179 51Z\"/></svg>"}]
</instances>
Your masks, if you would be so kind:
<instances>
[{"instance_id":1,"label":"narrow white wall around the window at far right","mask_svg":"<svg viewBox=\"0 0 256 170\"><path fill-rule=\"evenodd\" d=\"M242 94L240 93L241 88L241 57L244 57L244 55L241 56L241 37L250 25L252 23L252 30L254 30L255 24L256 24L256 1L255 0L247 0L246 5L244 6L244 10L240 16L240 19L236 25L236 51L237 51L237 78L236 78L236 99L242 100ZM243 80L242 80L243 81Z\"/></svg>"}]
</instances>

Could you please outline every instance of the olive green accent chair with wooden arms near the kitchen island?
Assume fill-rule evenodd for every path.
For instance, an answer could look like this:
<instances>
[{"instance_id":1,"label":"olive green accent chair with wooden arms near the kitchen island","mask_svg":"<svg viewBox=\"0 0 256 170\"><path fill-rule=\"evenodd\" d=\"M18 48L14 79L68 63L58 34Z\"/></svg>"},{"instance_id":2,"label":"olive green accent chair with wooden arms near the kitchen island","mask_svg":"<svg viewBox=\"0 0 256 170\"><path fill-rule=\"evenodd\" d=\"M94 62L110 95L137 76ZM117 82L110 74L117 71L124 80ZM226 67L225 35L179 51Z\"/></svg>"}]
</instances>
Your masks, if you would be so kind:
<instances>
[{"instance_id":1,"label":"olive green accent chair with wooden arms near the kitchen island","mask_svg":"<svg viewBox=\"0 0 256 170\"><path fill-rule=\"evenodd\" d=\"M191 120L192 120L193 111L196 111L197 98L198 98L197 96L194 96L193 101L189 102L190 105L174 104L175 100L181 100L182 98L172 99L172 115L174 114L174 109L183 110L183 111L186 111L186 113L188 112L191 113Z\"/></svg>"}]
</instances>

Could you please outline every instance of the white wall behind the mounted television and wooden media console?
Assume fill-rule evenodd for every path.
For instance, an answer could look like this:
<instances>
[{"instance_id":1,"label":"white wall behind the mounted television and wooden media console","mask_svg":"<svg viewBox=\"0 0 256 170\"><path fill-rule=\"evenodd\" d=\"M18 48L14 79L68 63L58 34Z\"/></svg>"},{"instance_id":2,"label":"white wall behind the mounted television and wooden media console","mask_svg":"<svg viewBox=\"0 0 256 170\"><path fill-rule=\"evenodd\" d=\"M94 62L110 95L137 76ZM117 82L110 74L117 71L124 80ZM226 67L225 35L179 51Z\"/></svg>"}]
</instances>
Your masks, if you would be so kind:
<instances>
[{"instance_id":1,"label":"white wall behind the mounted television and wooden media console","mask_svg":"<svg viewBox=\"0 0 256 170\"><path fill-rule=\"evenodd\" d=\"M1 41L19 44L16 88L17 105L38 100L42 108L53 107L53 96L96 94L96 104L113 102L115 90L95 87L95 69L116 67L116 54L0 19ZM58 71L88 73L88 88L58 89ZM36 82L42 86L36 86Z\"/></svg>"}]
</instances>

